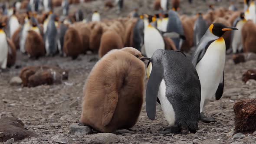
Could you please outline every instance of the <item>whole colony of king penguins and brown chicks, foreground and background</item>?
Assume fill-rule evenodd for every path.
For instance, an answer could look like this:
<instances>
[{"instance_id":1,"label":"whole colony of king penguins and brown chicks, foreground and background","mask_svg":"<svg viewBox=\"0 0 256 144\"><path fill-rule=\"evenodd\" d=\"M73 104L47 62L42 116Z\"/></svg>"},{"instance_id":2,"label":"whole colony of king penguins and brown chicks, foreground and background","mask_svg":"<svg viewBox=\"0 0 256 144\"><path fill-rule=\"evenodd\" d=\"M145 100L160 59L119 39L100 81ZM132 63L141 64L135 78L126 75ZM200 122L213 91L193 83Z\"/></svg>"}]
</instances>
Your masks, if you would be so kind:
<instances>
[{"instance_id":1,"label":"whole colony of king penguins and brown chicks, foreground and background","mask_svg":"<svg viewBox=\"0 0 256 144\"><path fill-rule=\"evenodd\" d=\"M69 13L69 4L79 0L24 3L14 3L10 10L2 7L0 68L14 65L18 48L35 59L57 54L76 59L88 51L98 53L101 59L85 82L80 124L101 132L136 124L147 72L148 118L155 119L158 102L170 125L161 134L182 129L196 133L199 120L216 121L207 118L203 108L213 95L216 100L223 95L226 49L232 47L233 54L256 52L254 1L245 0L244 11L231 3L228 9L211 5L206 14L187 16L178 13L180 0L172 0L172 7L169 0L155 0L159 13L139 15L135 9L128 17L102 20L95 10L90 22L82 10ZM121 12L124 0L116 0L116 5ZM53 13L57 6L62 6L63 16ZM183 52L192 46L196 50L189 60ZM148 61L147 70L142 61ZM23 69L21 75L25 73ZM24 77L38 85L33 80L40 75L46 74Z\"/></svg>"}]
</instances>

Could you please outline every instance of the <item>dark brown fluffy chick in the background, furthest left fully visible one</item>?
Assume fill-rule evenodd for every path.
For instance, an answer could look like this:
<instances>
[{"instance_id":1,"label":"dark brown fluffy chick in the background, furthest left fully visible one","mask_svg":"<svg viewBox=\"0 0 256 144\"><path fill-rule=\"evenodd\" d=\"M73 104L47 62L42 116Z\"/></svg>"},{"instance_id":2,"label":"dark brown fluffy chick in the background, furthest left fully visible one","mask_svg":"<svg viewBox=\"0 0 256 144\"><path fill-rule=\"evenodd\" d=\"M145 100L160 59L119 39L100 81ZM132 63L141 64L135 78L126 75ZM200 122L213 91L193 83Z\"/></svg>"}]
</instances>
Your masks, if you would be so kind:
<instances>
[{"instance_id":1,"label":"dark brown fluffy chick in the background, furthest left fully visible one","mask_svg":"<svg viewBox=\"0 0 256 144\"><path fill-rule=\"evenodd\" d=\"M42 36L33 30L29 30L27 33L25 49L31 58L38 59L46 54Z\"/></svg>"}]
</instances>

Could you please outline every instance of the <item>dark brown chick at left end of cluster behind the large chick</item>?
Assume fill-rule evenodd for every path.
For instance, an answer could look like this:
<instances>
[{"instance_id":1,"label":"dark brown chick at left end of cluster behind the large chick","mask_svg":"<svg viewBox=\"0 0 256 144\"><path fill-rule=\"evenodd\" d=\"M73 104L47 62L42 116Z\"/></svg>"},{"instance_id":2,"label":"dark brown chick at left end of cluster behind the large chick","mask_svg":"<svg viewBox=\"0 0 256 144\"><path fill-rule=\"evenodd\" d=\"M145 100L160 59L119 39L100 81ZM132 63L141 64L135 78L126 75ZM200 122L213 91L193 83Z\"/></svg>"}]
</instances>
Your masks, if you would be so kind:
<instances>
[{"instance_id":1,"label":"dark brown chick at left end of cluster behind the large chick","mask_svg":"<svg viewBox=\"0 0 256 144\"><path fill-rule=\"evenodd\" d=\"M72 59L76 59L82 53L82 41L79 33L72 27L69 27L64 36L63 52L64 55L71 56Z\"/></svg>"}]
</instances>

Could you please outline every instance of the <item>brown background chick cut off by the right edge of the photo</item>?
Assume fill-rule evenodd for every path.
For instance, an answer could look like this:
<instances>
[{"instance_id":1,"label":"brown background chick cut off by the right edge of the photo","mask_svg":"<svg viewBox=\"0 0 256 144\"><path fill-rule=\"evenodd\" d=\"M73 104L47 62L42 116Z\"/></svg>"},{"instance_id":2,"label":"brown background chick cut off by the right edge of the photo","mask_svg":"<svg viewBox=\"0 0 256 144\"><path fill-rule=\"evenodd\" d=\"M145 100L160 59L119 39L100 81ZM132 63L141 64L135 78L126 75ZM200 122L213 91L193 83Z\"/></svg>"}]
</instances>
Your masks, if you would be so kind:
<instances>
[{"instance_id":1,"label":"brown background chick cut off by the right edge of the photo","mask_svg":"<svg viewBox=\"0 0 256 144\"><path fill-rule=\"evenodd\" d=\"M243 37L243 52L254 52L256 53L256 24L252 20L248 20L242 28Z\"/></svg>"}]
</instances>

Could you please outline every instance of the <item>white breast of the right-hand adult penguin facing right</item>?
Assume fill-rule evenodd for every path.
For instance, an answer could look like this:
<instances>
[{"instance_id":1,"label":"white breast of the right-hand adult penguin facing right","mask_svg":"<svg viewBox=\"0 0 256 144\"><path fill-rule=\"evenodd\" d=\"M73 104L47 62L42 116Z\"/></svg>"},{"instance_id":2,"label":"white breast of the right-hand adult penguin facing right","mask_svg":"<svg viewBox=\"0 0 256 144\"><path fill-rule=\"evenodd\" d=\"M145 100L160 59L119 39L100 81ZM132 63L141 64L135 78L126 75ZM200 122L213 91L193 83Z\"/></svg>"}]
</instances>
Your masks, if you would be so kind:
<instances>
[{"instance_id":1,"label":"white breast of the right-hand adult penguin facing right","mask_svg":"<svg viewBox=\"0 0 256 144\"><path fill-rule=\"evenodd\" d=\"M221 38L223 39L223 38ZM204 101L210 99L217 91L225 65L225 41L216 40L210 44L203 58L196 65L201 83L200 112L203 111Z\"/></svg>"}]
</instances>

